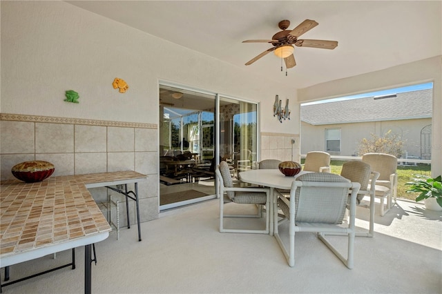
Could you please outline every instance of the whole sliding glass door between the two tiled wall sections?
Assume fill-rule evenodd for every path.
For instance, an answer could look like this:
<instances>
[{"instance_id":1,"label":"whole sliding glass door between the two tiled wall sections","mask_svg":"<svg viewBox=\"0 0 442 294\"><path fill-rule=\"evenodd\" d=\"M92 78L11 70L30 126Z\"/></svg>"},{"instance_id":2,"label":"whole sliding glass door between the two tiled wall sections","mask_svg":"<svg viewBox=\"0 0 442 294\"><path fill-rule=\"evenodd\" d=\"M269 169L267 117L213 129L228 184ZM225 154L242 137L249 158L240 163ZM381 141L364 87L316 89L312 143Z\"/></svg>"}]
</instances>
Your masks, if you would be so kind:
<instances>
[{"instance_id":1,"label":"whole sliding glass door between the two tiled wall sections","mask_svg":"<svg viewBox=\"0 0 442 294\"><path fill-rule=\"evenodd\" d=\"M256 166L258 105L160 84L160 210L213 199L215 167Z\"/></svg>"}]
</instances>

